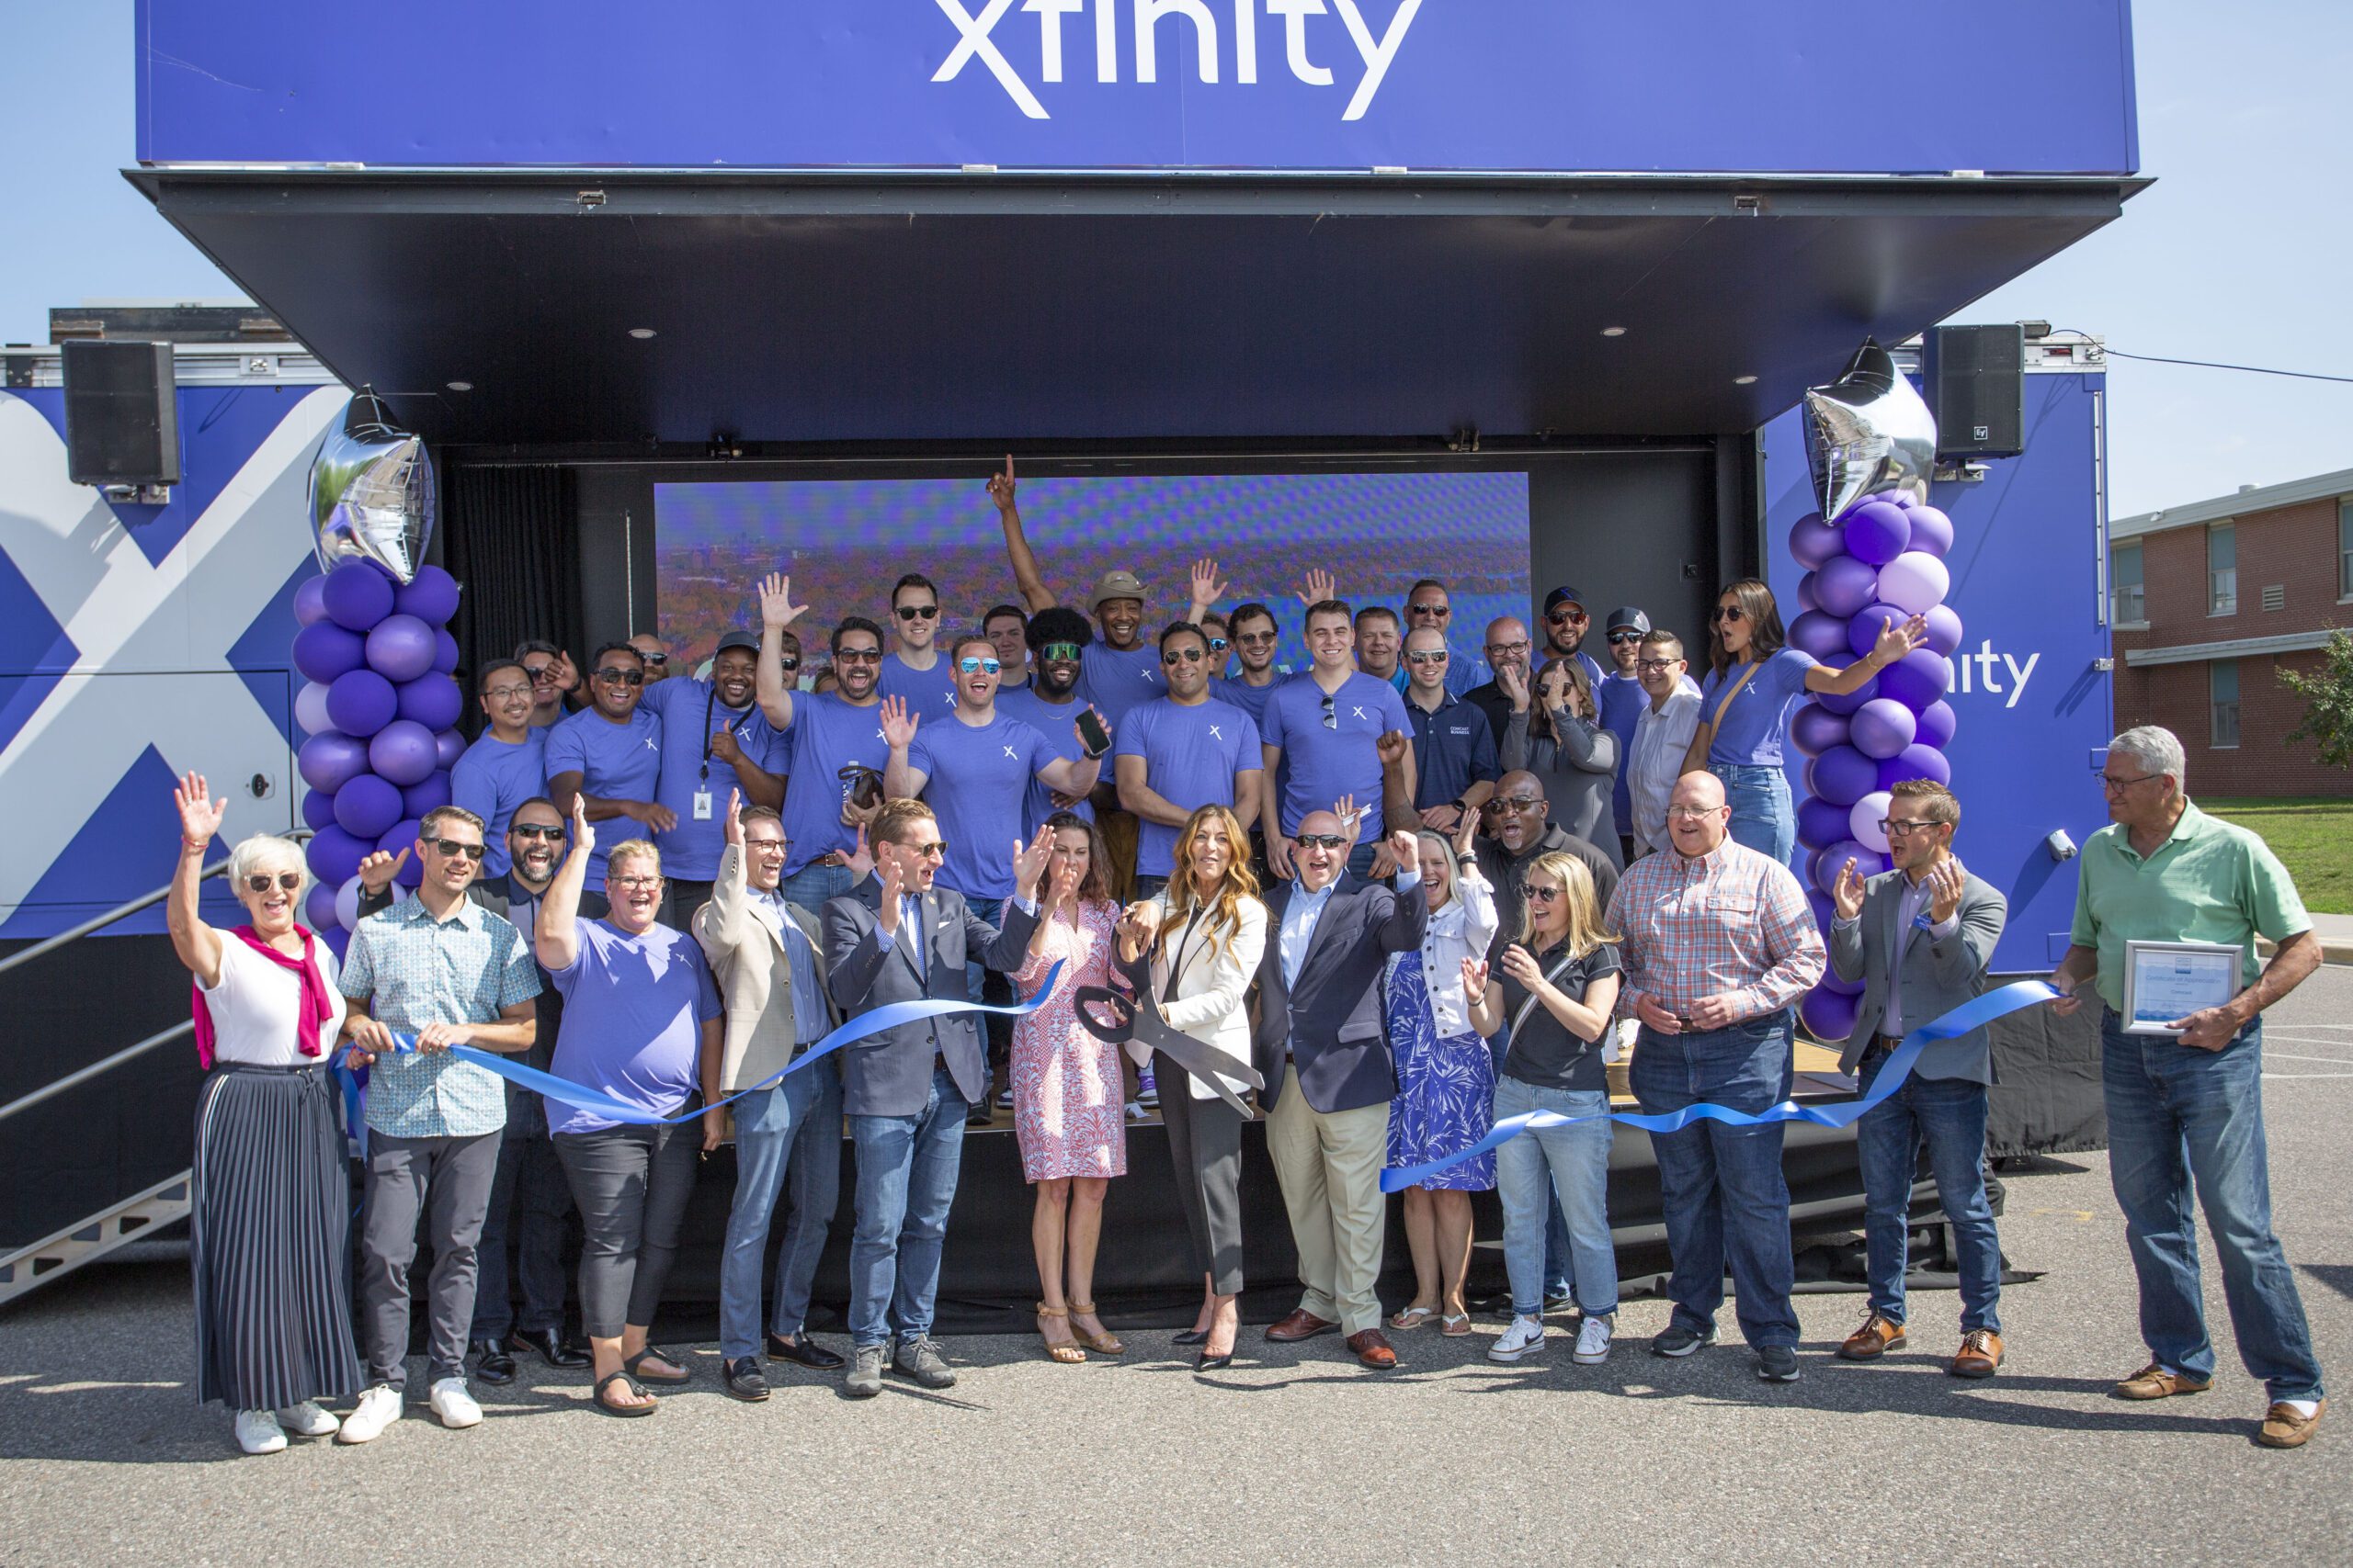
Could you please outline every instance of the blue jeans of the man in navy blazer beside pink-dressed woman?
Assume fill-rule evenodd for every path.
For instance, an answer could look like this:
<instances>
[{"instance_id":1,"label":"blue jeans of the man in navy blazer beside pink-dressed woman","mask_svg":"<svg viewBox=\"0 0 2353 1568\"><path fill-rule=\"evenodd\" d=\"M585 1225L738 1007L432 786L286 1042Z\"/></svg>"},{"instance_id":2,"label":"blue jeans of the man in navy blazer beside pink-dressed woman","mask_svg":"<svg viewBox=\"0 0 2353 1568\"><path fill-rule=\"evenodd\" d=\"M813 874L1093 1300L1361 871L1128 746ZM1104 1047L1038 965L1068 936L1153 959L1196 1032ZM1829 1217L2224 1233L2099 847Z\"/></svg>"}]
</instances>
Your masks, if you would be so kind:
<instances>
[{"instance_id":1,"label":"blue jeans of the man in navy blazer beside pink-dressed woman","mask_svg":"<svg viewBox=\"0 0 2353 1568\"><path fill-rule=\"evenodd\" d=\"M849 1234L849 1342L882 1345L932 1333L939 1248L948 1237L955 1173L965 1164L965 1095L948 1065L913 1117L849 1117L859 1152L856 1229Z\"/></svg>"}]
</instances>

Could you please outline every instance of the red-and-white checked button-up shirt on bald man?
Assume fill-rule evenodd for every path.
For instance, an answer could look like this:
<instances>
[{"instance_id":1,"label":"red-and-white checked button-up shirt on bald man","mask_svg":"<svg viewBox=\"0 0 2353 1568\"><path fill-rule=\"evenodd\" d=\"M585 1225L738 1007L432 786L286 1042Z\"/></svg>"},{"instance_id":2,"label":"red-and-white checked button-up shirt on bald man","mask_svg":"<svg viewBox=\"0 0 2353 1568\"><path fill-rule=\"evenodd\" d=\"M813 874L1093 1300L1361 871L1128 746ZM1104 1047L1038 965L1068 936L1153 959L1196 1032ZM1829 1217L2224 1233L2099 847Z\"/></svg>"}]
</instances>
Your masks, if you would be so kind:
<instances>
[{"instance_id":1,"label":"red-and-white checked button-up shirt on bald man","mask_svg":"<svg viewBox=\"0 0 2353 1568\"><path fill-rule=\"evenodd\" d=\"M1699 858L1642 856L1619 879L1609 931L1624 936L1626 1011L1647 994L1671 1013L1734 994L1737 1020L1793 1006L1826 952L1805 889L1772 856L1725 839Z\"/></svg>"}]
</instances>

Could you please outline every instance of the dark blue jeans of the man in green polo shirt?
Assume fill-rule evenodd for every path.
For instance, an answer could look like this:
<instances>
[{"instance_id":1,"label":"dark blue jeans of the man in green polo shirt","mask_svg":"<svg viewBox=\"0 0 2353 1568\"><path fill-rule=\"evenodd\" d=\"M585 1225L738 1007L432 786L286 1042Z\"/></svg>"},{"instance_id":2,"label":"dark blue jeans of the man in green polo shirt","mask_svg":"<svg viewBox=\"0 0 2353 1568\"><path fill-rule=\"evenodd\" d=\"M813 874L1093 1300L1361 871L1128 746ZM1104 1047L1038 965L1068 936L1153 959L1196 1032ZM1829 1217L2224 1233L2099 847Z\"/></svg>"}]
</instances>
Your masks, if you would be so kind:
<instances>
[{"instance_id":1,"label":"dark blue jeans of the man in green polo shirt","mask_svg":"<svg viewBox=\"0 0 2353 1568\"><path fill-rule=\"evenodd\" d=\"M2320 1399L2320 1361L2297 1279L2271 1232L2264 1150L2264 1020L2221 1051L2099 1023L2108 1100L2108 1178L2125 1211L2125 1246L2141 1281L2141 1340L2158 1366L2214 1373L2198 1286L2191 1185L2221 1262L2231 1333L2249 1378L2273 1399Z\"/></svg>"}]
</instances>

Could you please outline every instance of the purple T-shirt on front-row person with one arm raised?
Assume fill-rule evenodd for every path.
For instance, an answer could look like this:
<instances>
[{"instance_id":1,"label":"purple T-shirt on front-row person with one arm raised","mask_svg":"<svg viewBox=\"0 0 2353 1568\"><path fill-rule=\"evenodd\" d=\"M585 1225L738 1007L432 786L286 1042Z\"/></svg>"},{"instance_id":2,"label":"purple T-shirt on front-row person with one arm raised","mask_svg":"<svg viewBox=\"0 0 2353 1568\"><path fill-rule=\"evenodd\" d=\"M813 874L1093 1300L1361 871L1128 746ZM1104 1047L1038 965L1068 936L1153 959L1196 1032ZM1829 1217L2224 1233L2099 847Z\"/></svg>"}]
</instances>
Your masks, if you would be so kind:
<instances>
[{"instance_id":1,"label":"purple T-shirt on front-row person with one arm raised","mask_svg":"<svg viewBox=\"0 0 2353 1568\"><path fill-rule=\"evenodd\" d=\"M701 1025L720 1016L720 987L701 943L652 924L624 936L609 922L579 922L569 969L548 971L565 997L548 1072L656 1117L673 1117L694 1093ZM621 1126L579 1105L548 1100L551 1133Z\"/></svg>"}]
</instances>

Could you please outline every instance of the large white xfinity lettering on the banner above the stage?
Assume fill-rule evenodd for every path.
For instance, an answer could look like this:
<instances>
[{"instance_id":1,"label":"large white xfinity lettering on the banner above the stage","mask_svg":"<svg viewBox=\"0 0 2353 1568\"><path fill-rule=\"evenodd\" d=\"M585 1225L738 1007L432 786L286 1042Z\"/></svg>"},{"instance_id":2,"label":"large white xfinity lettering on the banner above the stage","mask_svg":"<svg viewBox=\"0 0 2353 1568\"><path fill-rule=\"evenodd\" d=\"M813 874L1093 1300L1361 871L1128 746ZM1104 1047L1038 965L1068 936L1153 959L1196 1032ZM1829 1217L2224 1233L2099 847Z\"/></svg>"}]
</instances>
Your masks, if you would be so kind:
<instances>
[{"instance_id":1,"label":"large white xfinity lettering on the banner above the stage","mask_svg":"<svg viewBox=\"0 0 2353 1568\"><path fill-rule=\"evenodd\" d=\"M976 61L988 75L998 78L998 87L1005 89L1005 96L1024 115L1047 120L1045 103L1038 101L1038 94L1031 92L1031 85L1005 56L1005 49L998 47L998 24L1007 19L1016 0L976 0L976 7L967 5L967 0L936 2L948 21L955 24L958 42L932 80L953 82L962 75L965 66ZM1388 78L1388 66L1405 45L1407 28L1414 26L1414 14L1421 12L1421 0L1398 0L1388 28L1374 35L1365 21L1365 7L1377 5L1377 0L1362 0L1362 5L1360 0L1019 0L1024 12L1038 16L1038 80L1045 85L1064 80L1064 19L1073 19L1073 54L1085 49L1092 33L1094 80L1106 85L1120 82L1122 12L1134 56L1134 75L1129 80L1160 80L1162 45L1176 52L1172 68L1184 71L1186 40L1191 40L1200 80L1219 82L1224 45L1228 40L1219 38L1219 9L1212 9L1217 5L1231 9L1233 80L1242 87L1257 87L1259 82L1261 5L1268 21L1275 16L1282 19L1282 63L1289 73L1308 87L1332 87L1332 66L1318 63L1318 56L1346 56L1337 47L1339 40L1332 35L1332 24L1325 21L1311 28L1308 19L1339 12L1341 28L1346 28L1348 42L1365 66L1365 75L1358 78L1355 94L1348 99L1341 120L1362 120L1365 110L1372 108L1374 94L1381 92L1381 82ZM1014 33L1016 28L1007 28L1007 38Z\"/></svg>"}]
</instances>

